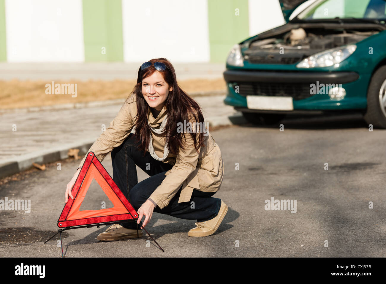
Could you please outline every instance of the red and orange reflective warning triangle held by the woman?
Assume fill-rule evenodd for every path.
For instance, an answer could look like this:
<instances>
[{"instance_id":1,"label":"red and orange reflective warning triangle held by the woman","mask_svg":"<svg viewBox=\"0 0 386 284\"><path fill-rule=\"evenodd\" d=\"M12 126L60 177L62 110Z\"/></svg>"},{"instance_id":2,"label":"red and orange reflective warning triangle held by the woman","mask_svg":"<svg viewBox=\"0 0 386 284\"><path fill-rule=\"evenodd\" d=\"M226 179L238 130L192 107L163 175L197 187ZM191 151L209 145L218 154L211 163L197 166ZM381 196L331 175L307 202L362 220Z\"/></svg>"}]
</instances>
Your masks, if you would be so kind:
<instances>
[{"instance_id":1,"label":"red and orange reflective warning triangle held by the woman","mask_svg":"<svg viewBox=\"0 0 386 284\"><path fill-rule=\"evenodd\" d=\"M79 210L93 179L98 182L112 202L113 207L99 210ZM127 201L93 152L87 153L86 160L75 181L72 195L74 199L68 198L59 217L59 228L138 218L138 213Z\"/></svg>"}]
</instances>

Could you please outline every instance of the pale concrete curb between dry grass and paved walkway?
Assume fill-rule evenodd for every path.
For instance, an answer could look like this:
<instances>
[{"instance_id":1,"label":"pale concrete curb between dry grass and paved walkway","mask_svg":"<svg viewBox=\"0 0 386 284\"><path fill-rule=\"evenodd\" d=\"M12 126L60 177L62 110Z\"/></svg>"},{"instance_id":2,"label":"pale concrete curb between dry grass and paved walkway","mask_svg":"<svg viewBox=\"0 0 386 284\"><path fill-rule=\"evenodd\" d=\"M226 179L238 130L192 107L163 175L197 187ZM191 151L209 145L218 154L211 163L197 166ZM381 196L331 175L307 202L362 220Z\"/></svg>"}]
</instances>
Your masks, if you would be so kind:
<instances>
[{"instance_id":1,"label":"pale concrete curb between dry grass and paved walkway","mask_svg":"<svg viewBox=\"0 0 386 284\"><path fill-rule=\"evenodd\" d=\"M189 94L191 97L201 97L201 96L214 96L214 95L225 95L225 90L220 91L207 91L207 92L195 92ZM51 110L59 110L59 109L82 109L85 107L102 107L106 105L115 105L115 104L123 104L125 99L114 99L114 100L100 100L96 102L78 102L71 104L57 104L57 105L44 105L41 107L25 107L18 109L0 109L0 114L7 113L27 113L27 112L37 112L37 111L51 111Z\"/></svg>"}]
</instances>

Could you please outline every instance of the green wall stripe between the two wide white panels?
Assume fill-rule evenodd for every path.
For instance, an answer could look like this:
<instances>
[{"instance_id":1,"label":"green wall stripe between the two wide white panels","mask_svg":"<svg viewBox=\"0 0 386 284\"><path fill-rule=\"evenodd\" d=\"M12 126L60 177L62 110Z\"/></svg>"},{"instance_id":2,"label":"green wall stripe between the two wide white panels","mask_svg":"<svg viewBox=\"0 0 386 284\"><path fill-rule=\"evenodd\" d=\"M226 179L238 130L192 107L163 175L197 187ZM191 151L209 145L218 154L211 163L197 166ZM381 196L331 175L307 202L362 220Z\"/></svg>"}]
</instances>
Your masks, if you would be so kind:
<instances>
[{"instance_id":1,"label":"green wall stripe between the two wide white panels","mask_svg":"<svg viewBox=\"0 0 386 284\"><path fill-rule=\"evenodd\" d=\"M83 36L86 62L123 61L122 1L83 0Z\"/></svg>"}]
</instances>

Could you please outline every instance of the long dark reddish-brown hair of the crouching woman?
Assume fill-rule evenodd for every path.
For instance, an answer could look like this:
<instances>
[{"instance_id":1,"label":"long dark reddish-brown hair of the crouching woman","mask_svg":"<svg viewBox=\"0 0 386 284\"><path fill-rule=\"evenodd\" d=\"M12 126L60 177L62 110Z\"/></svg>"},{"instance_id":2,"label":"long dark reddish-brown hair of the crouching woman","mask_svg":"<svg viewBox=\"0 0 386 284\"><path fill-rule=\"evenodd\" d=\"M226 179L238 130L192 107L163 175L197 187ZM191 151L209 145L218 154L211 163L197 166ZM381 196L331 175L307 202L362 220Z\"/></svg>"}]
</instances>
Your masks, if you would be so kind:
<instances>
[{"instance_id":1,"label":"long dark reddish-brown hair of the crouching woman","mask_svg":"<svg viewBox=\"0 0 386 284\"><path fill-rule=\"evenodd\" d=\"M183 123L183 121L185 120L186 124L188 124L189 118L193 115L195 123L199 123L196 125L202 125L205 128L204 117L202 115L201 108L197 104L197 102L191 97L189 97L189 95L186 94L178 86L176 72L170 61L166 58L161 57L149 60L149 62L162 62L168 67L164 71L160 72L165 82L168 83L169 89L171 86L173 86L173 90L169 91L168 97L165 101L168 121L166 122L163 137L165 138L166 143L168 143L169 153L176 155L179 151L179 148L184 149L182 136L184 136L184 139L186 139L185 133L178 133L177 131L178 122ZM150 143L151 129L147 123L147 113L149 111L150 106L149 104L147 104L146 100L142 95L142 80L143 78L151 76L155 71L156 68L154 68L154 65L151 65L150 67L144 70L141 70L141 68L139 68L137 84L135 85L133 90L137 99L138 117L137 122L135 124L135 136L139 141L141 141L141 145L139 147L140 150L144 152L144 155ZM198 152L198 145L204 146L203 129L201 129L201 127L196 127L196 132L193 132L193 126L191 126L191 128L192 131L190 132L190 135L192 136L192 139L194 141L195 149ZM197 131L200 131L199 141L196 141Z\"/></svg>"}]
</instances>

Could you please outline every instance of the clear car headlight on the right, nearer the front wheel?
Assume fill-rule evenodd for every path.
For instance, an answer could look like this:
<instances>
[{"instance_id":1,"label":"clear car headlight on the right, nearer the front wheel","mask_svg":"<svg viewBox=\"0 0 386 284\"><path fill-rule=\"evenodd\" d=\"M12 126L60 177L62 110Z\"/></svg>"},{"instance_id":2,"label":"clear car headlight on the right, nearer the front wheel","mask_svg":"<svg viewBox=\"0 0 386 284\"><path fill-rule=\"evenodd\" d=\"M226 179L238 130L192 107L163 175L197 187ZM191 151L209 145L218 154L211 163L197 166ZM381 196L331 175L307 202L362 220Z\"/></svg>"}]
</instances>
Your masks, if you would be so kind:
<instances>
[{"instance_id":1,"label":"clear car headlight on the right, nearer the front wheel","mask_svg":"<svg viewBox=\"0 0 386 284\"><path fill-rule=\"evenodd\" d=\"M339 48L328 49L319 53L315 53L302 61L296 67L298 68L313 68L327 67L340 63L349 57L357 49L355 44L340 46Z\"/></svg>"}]
</instances>

